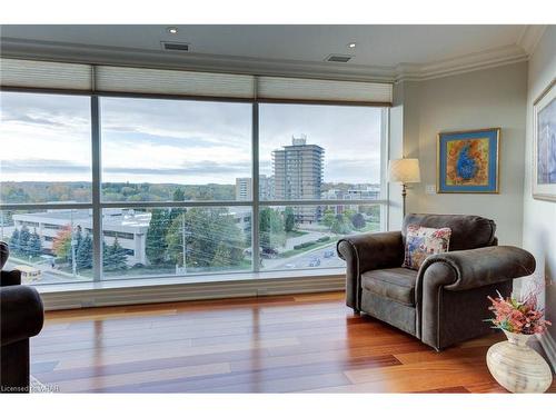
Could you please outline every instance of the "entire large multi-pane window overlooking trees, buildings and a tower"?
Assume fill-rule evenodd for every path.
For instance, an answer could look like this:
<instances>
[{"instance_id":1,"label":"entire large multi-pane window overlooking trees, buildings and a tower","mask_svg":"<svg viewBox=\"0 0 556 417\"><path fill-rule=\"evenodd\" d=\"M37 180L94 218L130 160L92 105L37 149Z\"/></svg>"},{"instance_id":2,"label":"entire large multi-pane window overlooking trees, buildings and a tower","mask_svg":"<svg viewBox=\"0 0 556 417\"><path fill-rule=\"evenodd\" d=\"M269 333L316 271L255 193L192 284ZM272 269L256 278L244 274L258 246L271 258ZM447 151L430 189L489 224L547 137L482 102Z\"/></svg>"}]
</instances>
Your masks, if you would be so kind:
<instances>
[{"instance_id":1,"label":"entire large multi-pane window overlooking trees, buildings and a tower","mask_svg":"<svg viewBox=\"0 0 556 417\"><path fill-rule=\"evenodd\" d=\"M0 239L26 282L302 275L384 229L385 108L0 98Z\"/></svg>"}]
</instances>

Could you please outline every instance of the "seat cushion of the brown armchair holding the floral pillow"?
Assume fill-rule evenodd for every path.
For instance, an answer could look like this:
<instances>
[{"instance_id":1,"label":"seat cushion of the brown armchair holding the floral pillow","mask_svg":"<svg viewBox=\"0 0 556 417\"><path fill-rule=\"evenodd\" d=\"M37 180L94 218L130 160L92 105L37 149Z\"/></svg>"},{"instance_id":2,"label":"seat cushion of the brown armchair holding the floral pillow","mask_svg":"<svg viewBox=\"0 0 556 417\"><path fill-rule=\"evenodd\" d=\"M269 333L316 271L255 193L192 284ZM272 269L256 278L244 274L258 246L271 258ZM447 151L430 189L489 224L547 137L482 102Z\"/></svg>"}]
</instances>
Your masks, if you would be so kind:
<instances>
[{"instance_id":1,"label":"seat cushion of the brown armchair holding the floral pillow","mask_svg":"<svg viewBox=\"0 0 556 417\"><path fill-rule=\"evenodd\" d=\"M363 288L384 298L415 306L417 271L408 268L375 269L361 275Z\"/></svg>"}]
</instances>

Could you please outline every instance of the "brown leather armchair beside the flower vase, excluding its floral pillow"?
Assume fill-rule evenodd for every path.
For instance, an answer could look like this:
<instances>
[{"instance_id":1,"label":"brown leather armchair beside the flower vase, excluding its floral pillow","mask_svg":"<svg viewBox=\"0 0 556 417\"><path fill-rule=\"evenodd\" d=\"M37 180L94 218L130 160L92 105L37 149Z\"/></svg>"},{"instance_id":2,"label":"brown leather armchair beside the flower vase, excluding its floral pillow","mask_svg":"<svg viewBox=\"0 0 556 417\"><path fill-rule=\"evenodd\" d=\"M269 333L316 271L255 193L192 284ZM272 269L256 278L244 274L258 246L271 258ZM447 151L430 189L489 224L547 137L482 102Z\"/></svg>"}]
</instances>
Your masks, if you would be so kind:
<instances>
[{"instance_id":1,"label":"brown leather armchair beside the flower vase, excluding its floral pillow","mask_svg":"<svg viewBox=\"0 0 556 417\"><path fill-rule=\"evenodd\" d=\"M428 257L418 271L401 268L408 225L449 227L450 251ZM437 350L488 334L487 296L509 296L515 278L535 271L533 255L497 246L495 231L493 220L478 216L411 214L401 231L340 239L346 304Z\"/></svg>"}]
</instances>

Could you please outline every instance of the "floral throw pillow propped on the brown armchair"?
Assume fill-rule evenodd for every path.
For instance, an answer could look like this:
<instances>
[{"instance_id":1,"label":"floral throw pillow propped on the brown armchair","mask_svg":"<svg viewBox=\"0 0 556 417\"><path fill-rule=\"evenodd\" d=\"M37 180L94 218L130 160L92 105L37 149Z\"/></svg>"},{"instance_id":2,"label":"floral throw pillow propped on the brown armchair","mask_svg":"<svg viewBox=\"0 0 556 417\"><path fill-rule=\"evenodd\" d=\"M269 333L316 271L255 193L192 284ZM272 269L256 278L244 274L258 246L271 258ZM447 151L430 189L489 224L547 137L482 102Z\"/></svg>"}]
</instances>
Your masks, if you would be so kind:
<instances>
[{"instance_id":1,"label":"floral throw pillow propped on the brown armchair","mask_svg":"<svg viewBox=\"0 0 556 417\"><path fill-rule=\"evenodd\" d=\"M451 229L443 227L433 229L419 225L407 226L405 268L419 269L421 264L430 255L448 251Z\"/></svg>"}]
</instances>

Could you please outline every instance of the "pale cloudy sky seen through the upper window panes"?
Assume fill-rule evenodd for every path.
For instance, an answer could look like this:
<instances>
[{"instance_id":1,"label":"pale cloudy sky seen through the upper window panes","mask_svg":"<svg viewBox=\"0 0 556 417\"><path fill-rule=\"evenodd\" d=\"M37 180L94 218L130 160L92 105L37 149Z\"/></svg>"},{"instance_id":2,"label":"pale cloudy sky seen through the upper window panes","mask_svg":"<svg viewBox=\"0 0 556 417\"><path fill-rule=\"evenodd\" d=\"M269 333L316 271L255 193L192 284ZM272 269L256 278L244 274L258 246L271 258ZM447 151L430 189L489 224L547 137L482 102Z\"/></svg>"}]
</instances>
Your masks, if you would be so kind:
<instances>
[{"instance_id":1,"label":"pale cloudy sky seen through the upper window panes","mask_svg":"<svg viewBox=\"0 0 556 417\"><path fill-rule=\"evenodd\" d=\"M1 92L2 181L90 181L90 99ZM380 109L260 105L260 173L307 136L325 148L326 182L379 182ZM251 106L101 98L103 181L235 183L250 177Z\"/></svg>"}]
</instances>

